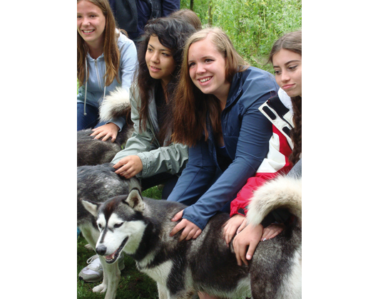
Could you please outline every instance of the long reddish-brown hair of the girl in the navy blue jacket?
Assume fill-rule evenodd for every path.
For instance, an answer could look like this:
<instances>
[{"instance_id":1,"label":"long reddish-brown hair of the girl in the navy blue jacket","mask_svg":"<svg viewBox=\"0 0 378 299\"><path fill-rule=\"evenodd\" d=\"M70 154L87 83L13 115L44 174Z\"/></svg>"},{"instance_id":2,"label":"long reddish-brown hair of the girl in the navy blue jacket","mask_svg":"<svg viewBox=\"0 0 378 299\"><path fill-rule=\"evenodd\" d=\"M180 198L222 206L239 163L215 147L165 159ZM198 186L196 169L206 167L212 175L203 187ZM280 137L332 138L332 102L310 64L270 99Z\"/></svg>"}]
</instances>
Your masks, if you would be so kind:
<instances>
[{"instance_id":1,"label":"long reddish-brown hair of the girl in the navy blue jacket","mask_svg":"<svg viewBox=\"0 0 378 299\"><path fill-rule=\"evenodd\" d=\"M203 41L209 36L212 43L223 55L226 61L226 80L232 83L236 73L249 68L248 63L237 53L227 34L220 28L205 28L190 36L183 57L180 82L175 96L173 142L194 146L205 134L208 140L208 117L213 133L222 132L220 124L220 100L214 95L205 95L195 86L189 73L189 48L193 43Z\"/></svg>"}]
</instances>

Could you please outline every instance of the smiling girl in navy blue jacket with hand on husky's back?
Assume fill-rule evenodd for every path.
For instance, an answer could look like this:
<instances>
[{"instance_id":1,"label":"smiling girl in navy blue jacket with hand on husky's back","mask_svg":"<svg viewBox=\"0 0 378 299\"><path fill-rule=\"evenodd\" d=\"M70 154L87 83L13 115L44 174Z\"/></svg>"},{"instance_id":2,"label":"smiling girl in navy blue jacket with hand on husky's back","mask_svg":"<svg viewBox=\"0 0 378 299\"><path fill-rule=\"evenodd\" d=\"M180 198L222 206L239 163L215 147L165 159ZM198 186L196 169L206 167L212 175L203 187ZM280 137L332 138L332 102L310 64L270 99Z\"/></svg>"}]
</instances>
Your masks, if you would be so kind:
<instances>
[{"instance_id":1,"label":"smiling girl in navy blue jacket with hand on husky's back","mask_svg":"<svg viewBox=\"0 0 378 299\"><path fill-rule=\"evenodd\" d=\"M272 126L259 107L277 95L274 77L252 68L220 28L188 40L175 100L173 140L190 147L189 162L168 200L189 207L172 231L197 238L218 211L260 167L269 150Z\"/></svg>"}]
</instances>

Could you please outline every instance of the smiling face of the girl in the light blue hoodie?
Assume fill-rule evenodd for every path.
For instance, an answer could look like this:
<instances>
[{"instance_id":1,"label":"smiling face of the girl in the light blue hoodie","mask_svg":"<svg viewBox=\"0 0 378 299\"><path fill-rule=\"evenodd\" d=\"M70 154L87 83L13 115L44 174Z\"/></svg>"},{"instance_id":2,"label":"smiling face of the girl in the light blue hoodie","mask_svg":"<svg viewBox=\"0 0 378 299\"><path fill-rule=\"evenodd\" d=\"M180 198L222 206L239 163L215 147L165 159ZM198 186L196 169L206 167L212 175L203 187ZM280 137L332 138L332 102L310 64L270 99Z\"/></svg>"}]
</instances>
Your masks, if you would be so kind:
<instances>
[{"instance_id":1,"label":"smiling face of the girl in the light blue hoodie","mask_svg":"<svg viewBox=\"0 0 378 299\"><path fill-rule=\"evenodd\" d=\"M89 1L83 0L77 5L77 30L88 46L103 46L106 17L101 9Z\"/></svg>"}]
</instances>

